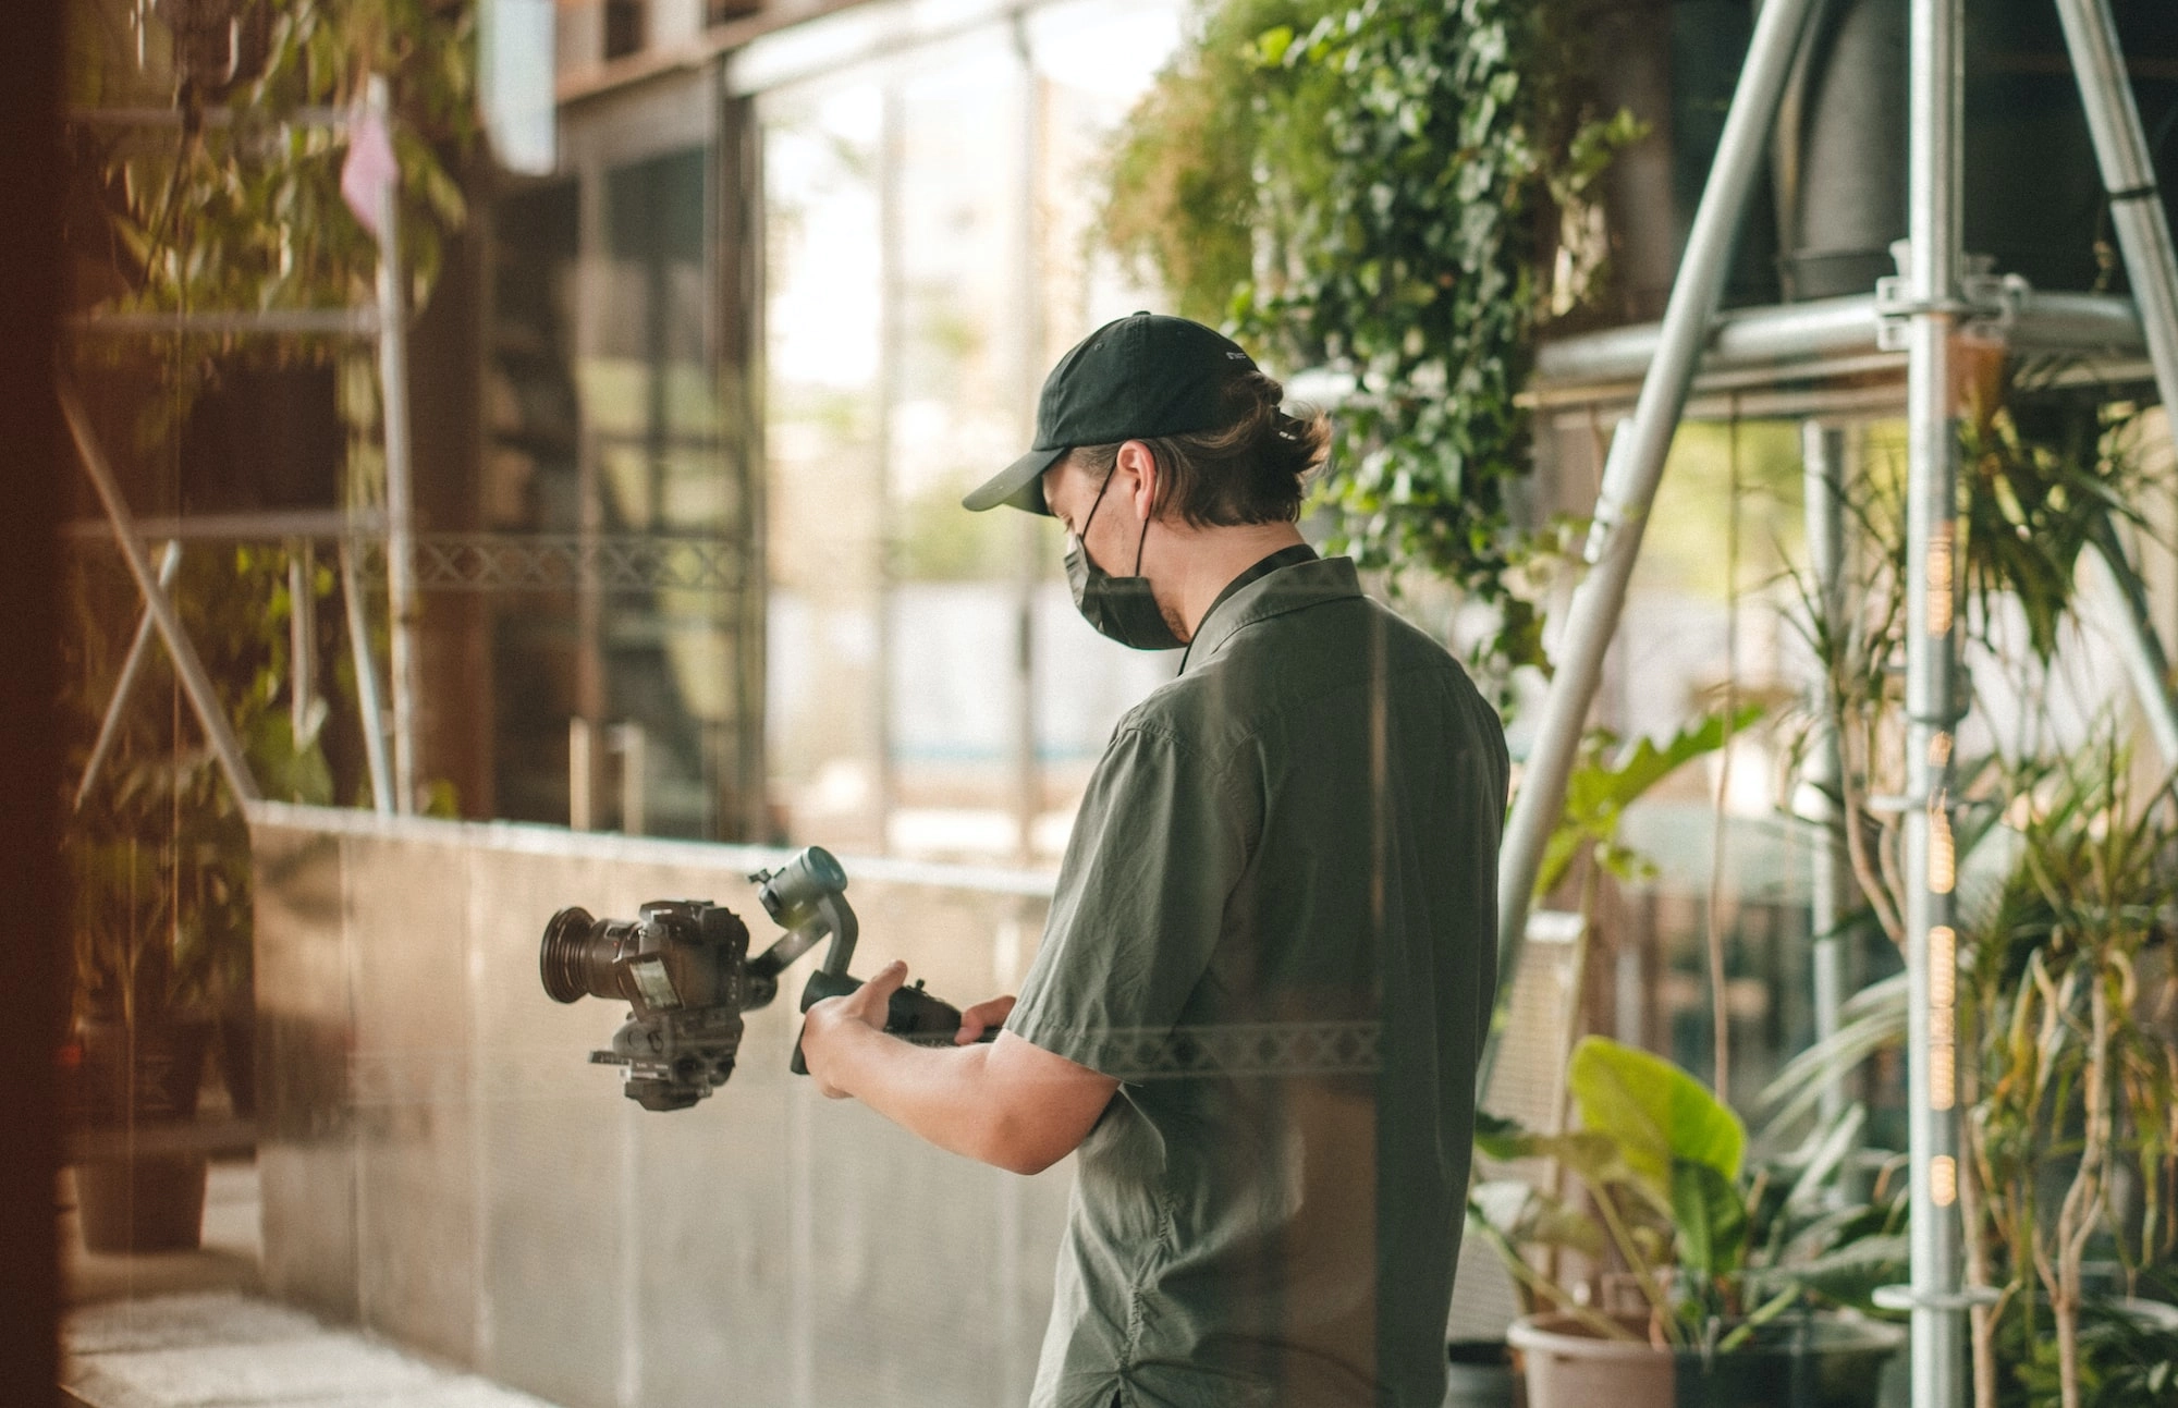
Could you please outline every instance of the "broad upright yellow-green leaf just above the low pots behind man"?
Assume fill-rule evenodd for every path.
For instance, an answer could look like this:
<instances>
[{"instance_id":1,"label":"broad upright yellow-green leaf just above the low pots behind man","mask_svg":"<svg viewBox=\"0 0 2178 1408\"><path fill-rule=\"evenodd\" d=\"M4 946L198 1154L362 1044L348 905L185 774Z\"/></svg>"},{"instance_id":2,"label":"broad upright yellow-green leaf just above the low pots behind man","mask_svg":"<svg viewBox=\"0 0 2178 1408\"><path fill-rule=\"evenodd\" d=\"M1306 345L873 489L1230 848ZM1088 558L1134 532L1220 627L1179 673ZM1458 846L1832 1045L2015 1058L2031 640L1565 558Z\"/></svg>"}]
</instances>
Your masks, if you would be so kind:
<instances>
[{"instance_id":1,"label":"broad upright yellow-green leaf just above the low pots behind man","mask_svg":"<svg viewBox=\"0 0 2178 1408\"><path fill-rule=\"evenodd\" d=\"M1610 1037L1581 1037L1566 1070L1581 1127L1618 1144L1618 1157L1664 1207L1673 1162L1705 1164L1738 1184L1747 1127L1701 1081L1664 1057Z\"/></svg>"}]
</instances>

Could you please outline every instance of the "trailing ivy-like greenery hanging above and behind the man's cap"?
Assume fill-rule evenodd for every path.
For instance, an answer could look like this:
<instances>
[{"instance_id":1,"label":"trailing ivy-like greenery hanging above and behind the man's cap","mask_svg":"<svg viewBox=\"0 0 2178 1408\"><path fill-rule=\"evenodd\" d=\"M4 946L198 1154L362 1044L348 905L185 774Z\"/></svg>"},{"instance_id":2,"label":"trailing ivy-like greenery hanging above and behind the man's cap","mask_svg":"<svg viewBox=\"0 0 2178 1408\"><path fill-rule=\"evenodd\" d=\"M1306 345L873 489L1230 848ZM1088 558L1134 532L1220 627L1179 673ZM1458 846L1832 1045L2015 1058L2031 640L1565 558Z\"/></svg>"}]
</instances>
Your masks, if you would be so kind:
<instances>
[{"instance_id":1,"label":"trailing ivy-like greenery hanging above and behind the man's cap","mask_svg":"<svg viewBox=\"0 0 2178 1408\"><path fill-rule=\"evenodd\" d=\"M1104 233L1183 312L1350 375L1335 551L1501 612L1481 663L1544 667L1507 591L1535 543L1514 395L1538 323L1603 264L1590 192L1642 135L1596 113L1579 0L1222 0L1124 126ZM1546 270L1546 272L1544 272Z\"/></svg>"}]
</instances>

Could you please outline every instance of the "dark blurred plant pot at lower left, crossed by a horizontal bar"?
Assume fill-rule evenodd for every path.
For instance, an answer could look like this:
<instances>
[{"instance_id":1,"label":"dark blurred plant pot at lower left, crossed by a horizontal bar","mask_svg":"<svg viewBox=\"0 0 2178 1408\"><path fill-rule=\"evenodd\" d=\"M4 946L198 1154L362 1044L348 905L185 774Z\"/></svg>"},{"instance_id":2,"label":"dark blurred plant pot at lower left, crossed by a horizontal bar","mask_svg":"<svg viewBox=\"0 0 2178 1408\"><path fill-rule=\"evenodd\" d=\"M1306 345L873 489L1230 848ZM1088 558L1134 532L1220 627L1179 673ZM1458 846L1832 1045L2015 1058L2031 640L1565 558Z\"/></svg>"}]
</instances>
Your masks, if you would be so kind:
<instances>
[{"instance_id":1,"label":"dark blurred plant pot at lower left, crossed by a horizontal bar","mask_svg":"<svg viewBox=\"0 0 2178 1408\"><path fill-rule=\"evenodd\" d=\"M78 1118L91 1133L152 1133L196 1118L211 1022L159 1018L83 1024ZM203 1242L205 1155L124 1153L76 1166L87 1251L187 1251Z\"/></svg>"}]
</instances>

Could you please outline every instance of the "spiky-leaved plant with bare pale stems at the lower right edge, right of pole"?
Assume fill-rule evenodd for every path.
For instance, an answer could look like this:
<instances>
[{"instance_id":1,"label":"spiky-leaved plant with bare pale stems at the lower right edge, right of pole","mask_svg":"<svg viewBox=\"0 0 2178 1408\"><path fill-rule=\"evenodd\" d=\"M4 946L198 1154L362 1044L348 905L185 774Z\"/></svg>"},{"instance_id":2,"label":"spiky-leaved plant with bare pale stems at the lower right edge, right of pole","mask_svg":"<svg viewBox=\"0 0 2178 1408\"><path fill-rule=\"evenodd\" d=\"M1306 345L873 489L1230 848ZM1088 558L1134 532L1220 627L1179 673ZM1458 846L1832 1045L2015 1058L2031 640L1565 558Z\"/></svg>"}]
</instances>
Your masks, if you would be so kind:
<instances>
[{"instance_id":1,"label":"spiky-leaved plant with bare pale stems at the lower right edge, right of pole","mask_svg":"<svg viewBox=\"0 0 2178 1408\"><path fill-rule=\"evenodd\" d=\"M2145 959L2174 937L2178 815L2167 785L2139 796L2115 737L2017 787L2030 798L2019 863L1962 974L1984 1013L1962 1059L1962 1212L1978 1279L2002 1295L1978 1316L1975 1351L1993 1371L2004 1316L2039 1343L2047 1312L2058 1397L2078 1408L2087 1253L2134 1277L2178 1253L2178 1053L2141 994ZM2139 1190L2132 1218L2115 1203L2121 1177Z\"/></svg>"}]
</instances>

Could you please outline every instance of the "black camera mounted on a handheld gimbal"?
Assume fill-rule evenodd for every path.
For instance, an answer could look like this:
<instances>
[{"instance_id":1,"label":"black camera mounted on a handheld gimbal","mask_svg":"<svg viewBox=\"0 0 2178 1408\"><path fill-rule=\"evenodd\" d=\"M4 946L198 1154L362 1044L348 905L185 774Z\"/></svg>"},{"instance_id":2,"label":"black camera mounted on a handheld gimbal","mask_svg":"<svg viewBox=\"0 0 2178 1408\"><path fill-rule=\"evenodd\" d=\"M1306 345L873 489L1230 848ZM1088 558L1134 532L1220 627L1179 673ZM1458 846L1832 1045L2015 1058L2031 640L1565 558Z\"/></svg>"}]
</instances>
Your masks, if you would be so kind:
<instances>
[{"instance_id":1,"label":"black camera mounted on a handheld gimbal","mask_svg":"<svg viewBox=\"0 0 2178 1408\"><path fill-rule=\"evenodd\" d=\"M627 1003L627 1020L590 1061L625 1066L623 1094L645 1109L688 1109L725 1085L741 1055L741 1013L771 1003L786 966L819 939L830 935L832 946L802 987L802 1011L862 985L847 974L860 924L847 905L847 872L832 852L810 846L749 883L764 913L786 931L754 959L749 926L710 900L651 900L634 920L599 920L568 907L544 924L538 974L547 996ZM917 983L893 994L884 1029L950 1046L960 1009ZM984 1040L993 1035L987 1031ZM788 1068L808 1075L799 1040Z\"/></svg>"}]
</instances>

